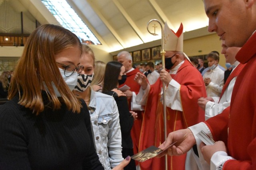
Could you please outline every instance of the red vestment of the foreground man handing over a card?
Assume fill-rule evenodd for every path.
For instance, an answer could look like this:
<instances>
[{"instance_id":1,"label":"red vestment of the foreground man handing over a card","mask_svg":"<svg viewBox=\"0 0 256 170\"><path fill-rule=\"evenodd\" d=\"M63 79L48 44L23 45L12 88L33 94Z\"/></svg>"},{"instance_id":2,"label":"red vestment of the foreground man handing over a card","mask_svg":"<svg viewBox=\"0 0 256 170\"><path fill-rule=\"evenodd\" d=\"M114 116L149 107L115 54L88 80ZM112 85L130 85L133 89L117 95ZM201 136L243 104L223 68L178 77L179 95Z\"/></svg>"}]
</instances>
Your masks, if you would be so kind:
<instances>
[{"instance_id":1,"label":"red vestment of the foreground man handing over a card","mask_svg":"<svg viewBox=\"0 0 256 170\"><path fill-rule=\"evenodd\" d=\"M206 121L206 124L215 141L222 140L226 134L228 155L236 159L228 160L224 164L223 170L255 170L256 33L240 49L236 59L242 64L247 64L236 78L230 103L230 113L226 113L224 110L224 116L222 113L212 117ZM226 121L223 121L225 119ZM224 135L221 132L224 132Z\"/></svg>"}]
</instances>

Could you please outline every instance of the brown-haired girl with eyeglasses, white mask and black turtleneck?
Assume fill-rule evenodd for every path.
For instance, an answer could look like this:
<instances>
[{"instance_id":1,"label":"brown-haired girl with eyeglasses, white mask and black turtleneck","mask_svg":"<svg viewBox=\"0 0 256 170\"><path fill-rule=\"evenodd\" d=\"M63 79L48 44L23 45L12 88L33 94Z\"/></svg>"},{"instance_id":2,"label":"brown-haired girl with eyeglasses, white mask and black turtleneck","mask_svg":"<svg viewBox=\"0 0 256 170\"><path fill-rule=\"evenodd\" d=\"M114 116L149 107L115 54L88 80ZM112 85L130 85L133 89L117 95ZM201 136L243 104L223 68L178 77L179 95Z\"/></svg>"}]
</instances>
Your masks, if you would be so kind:
<instances>
[{"instance_id":1,"label":"brown-haired girl with eyeglasses, white mask and black turtleneck","mask_svg":"<svg viewBox=\"0 0 256 170\"><path fill-rule=\"evenodd\" d=\"M72 92L81 54L80 40L63 27L46 24L30 35L10 101L0 107L0 169L103 170L87 106Z\"/></svg>"}]
</instances>

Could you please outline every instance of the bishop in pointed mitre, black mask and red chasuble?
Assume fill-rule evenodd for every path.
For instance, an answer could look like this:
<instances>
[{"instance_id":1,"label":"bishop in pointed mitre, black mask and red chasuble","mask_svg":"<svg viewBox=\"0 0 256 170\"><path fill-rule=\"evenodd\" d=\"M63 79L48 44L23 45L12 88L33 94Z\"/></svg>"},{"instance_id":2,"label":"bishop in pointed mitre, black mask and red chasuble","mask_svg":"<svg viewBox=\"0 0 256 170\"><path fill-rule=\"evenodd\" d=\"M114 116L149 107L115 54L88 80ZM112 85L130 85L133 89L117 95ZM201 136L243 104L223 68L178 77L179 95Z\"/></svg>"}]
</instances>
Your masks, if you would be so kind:
<instances>
[{"instance_id":1,"label":"bishop in pointed mitre, black mask and red chasuble","mask_svg":"<svg viewBox=\"0 0 256 170\"><path fill-rule=\"evenodd\" d=\"M165 67L160 78L151 86L144 74L137 73L135 80L141 84L136 102L146 101L142 122L140 150L164 142L164 113L162 105L162 82L166 88L167 133L183 129L204 120L204 111L198 106L197 100L206 97L204 81L200 72L188 61L183 53L183 25L177 33L167 23L164 25ZM168 170L184 170L186 155L168 156ZM142 170L165 168L164 158L153 158L140 162Z\"/></svg>"}]
</instances>

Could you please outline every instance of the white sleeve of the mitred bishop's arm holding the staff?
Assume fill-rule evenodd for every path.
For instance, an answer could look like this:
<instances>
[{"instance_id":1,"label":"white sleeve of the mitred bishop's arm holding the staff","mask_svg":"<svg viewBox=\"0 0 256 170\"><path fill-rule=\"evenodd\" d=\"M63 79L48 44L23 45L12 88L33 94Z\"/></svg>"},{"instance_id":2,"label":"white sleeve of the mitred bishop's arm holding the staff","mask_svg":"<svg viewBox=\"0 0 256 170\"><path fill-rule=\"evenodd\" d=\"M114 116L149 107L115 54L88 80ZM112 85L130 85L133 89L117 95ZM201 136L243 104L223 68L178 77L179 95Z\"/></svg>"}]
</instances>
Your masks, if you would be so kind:
<instances>
[{"instance_id":1,"label":"white sleeve of the mitred bishop's arm holding the staff","mask_svg":"<svg viewBox=\"0 0 256 170\"><path fill-rule=\"evenodd\" d=\"M180 84L172 79L166 89L166 106L173 110L183 111L180 100Z\"/></svg>"}]
</instances>

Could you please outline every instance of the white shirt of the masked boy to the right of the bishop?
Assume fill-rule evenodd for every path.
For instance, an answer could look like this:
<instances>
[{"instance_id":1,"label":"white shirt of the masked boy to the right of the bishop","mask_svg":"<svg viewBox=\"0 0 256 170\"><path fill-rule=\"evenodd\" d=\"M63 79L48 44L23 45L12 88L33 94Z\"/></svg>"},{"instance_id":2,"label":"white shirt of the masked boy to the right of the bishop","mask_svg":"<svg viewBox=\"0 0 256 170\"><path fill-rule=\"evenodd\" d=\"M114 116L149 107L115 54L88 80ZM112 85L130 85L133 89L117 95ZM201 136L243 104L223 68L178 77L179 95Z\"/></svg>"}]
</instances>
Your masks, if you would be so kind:
<instances>
[{"instance_id":1,"label":"white shirt of the masked boy to the right of the bishop","mask_svg":"<svg viewBox=\"0 0 256 170\"><path fill-rule=\"evenodd\" d=\"M224 86L224 71L216 66L213 70L207 71L203 79L210 78L211 82L206 86L206 94L209 97L220 96Z\"/></svg>"}]
</instances>

